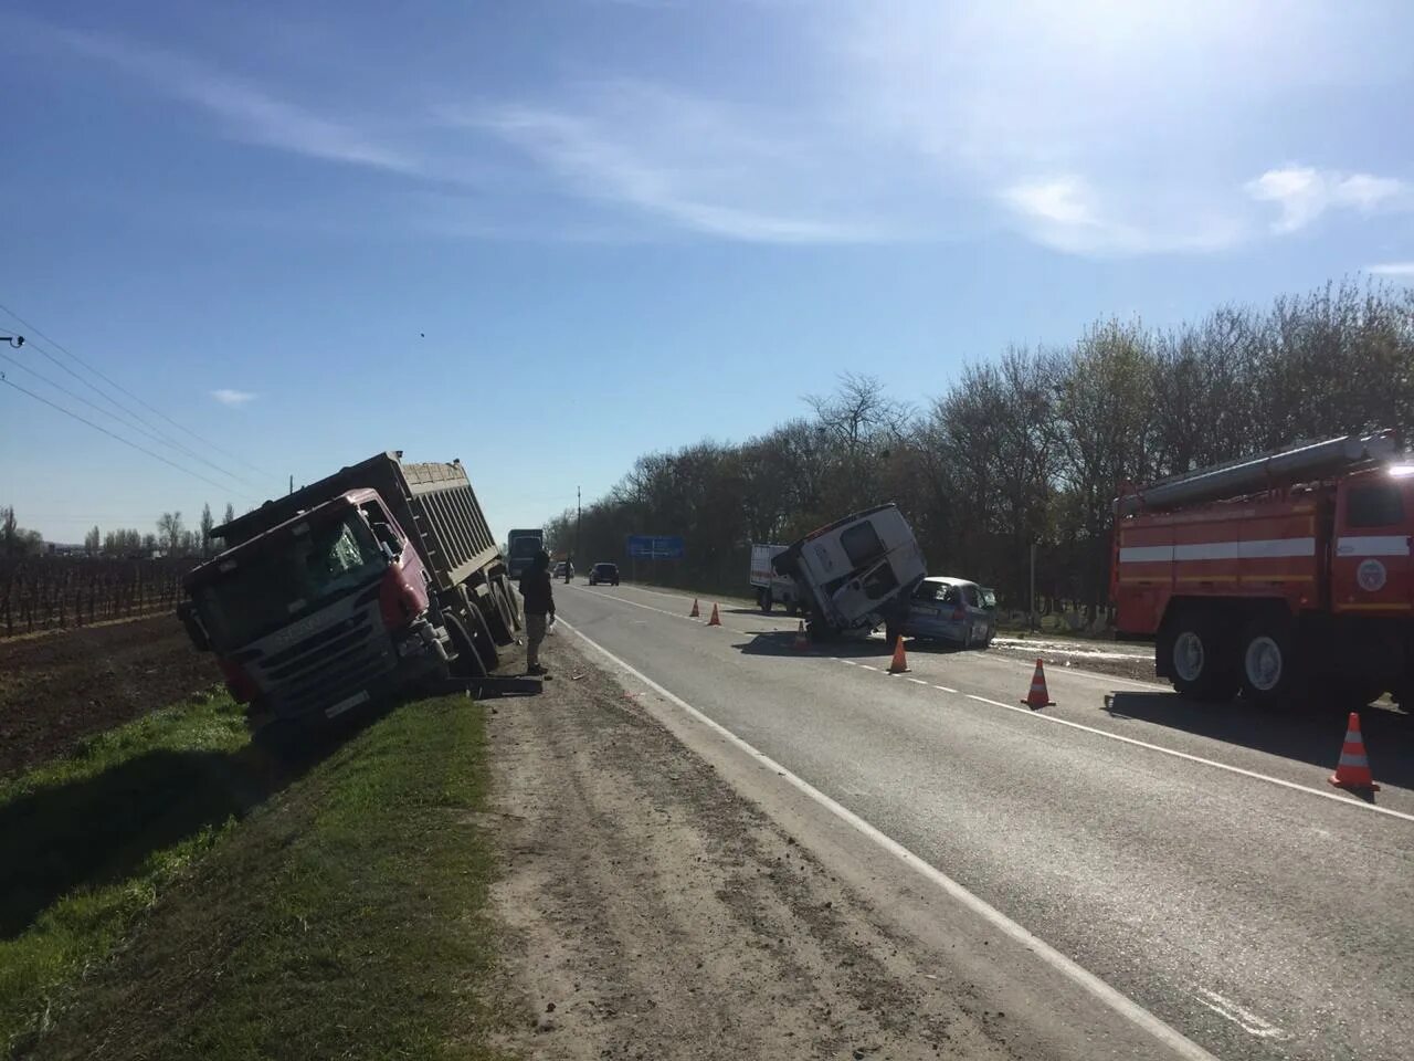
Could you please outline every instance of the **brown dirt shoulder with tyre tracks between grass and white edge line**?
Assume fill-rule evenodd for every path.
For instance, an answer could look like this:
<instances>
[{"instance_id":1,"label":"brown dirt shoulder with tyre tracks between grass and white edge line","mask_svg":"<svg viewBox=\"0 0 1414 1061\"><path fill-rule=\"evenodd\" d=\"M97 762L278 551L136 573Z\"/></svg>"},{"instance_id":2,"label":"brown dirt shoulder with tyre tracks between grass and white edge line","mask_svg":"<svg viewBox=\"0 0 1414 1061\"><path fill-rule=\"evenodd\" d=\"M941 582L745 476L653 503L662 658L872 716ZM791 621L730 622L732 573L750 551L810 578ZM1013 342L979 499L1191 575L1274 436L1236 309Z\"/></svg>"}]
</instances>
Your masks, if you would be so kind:
<instances>
[{"instance_id":1,"label":"brown dirt shoulder with tyre tracks between grass and white edge line","mask_svg":"<svg viewBox=\"0 0 1414 1061\"><path fill-rule=\"evenodd\" d=\"M567 638L493 702L508 1047L537 1058L1010 1057L1001 1014Z\"/></svg>"}]
</instances>

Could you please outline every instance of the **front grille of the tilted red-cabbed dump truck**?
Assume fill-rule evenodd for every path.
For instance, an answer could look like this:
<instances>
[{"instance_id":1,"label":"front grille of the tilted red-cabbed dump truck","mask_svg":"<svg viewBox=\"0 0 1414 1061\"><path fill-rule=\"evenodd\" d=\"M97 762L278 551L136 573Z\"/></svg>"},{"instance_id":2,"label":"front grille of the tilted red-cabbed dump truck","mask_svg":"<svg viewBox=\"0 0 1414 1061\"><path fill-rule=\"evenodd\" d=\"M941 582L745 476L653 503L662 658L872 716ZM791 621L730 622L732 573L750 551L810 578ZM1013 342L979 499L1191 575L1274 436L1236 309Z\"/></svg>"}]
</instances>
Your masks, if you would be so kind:
<instances>
[{"instance_id":1,"label":"front grille of the tilted red-cabbed dump truck","mask_svg":"<svg viewBox=\"0 0 1414 1061\"><path fill-rule=\"evenodd\" d=\"M393 669L382 628L362 608L332 627L255 661L252 669L276 714L303 714L354 696Z\"/></svg>"}]
</instances>

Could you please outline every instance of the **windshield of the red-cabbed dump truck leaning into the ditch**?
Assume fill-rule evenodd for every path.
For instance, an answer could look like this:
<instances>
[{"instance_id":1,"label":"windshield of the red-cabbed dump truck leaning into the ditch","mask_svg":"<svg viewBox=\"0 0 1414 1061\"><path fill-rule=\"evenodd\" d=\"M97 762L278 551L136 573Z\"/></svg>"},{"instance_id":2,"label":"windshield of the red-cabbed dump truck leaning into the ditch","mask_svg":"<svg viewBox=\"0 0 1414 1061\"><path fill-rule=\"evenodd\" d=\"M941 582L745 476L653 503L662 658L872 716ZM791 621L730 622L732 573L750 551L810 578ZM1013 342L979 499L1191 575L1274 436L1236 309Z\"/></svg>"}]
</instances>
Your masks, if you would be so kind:
<instances>
[{"instance_id":1,"label":"windshield of the red-cabbed dump truck leaning into the ditch","mask_svg":"<svg viewBox=\"0 0 1414 1061\"><path fill-rule=\"evenodd\" d=\"M242 556L197 590L197 605L215 645L229 651L368 584L386 567L373 533L348 512Z\"/></svg>"}]
</instances>

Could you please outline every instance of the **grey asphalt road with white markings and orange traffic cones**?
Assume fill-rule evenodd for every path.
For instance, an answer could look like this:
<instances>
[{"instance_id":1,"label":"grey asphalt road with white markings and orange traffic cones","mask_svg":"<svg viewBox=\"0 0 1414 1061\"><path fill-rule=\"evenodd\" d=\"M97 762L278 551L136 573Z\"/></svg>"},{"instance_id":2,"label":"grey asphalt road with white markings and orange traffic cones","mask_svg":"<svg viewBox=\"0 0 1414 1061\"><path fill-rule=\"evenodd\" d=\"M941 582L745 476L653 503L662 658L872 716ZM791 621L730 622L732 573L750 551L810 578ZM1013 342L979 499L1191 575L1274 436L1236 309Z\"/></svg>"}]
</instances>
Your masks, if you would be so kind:
<instances>
[{"instance_id":1,"label":"grey asphalt road with white markings and orange traffic cones","mask_svg":"<svg viewBox=\"0 0 1414 1061\"><path fill-rule=\"evenodd\" d=\"M909 644L792 648L745 605L556 586L578 632L1222 1058L1414 1043L1414 724L1362 719L1373 801L1331 788L1345 716ZM710 605L703 601L704 607ZM1161 1055L1155 1048L1154 1055Z\"/></svg>"}]
</instances>

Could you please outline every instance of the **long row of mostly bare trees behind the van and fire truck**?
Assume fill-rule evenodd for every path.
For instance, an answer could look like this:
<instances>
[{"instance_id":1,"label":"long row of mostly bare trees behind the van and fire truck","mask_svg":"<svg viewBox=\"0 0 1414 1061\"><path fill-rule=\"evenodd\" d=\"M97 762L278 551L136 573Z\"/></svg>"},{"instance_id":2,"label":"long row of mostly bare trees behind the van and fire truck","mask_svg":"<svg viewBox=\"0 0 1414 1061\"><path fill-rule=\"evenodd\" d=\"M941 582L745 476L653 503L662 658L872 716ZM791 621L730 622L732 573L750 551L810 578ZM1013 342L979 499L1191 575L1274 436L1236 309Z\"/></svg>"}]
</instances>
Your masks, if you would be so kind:
<instances>
[{"instance_id":1,"label":"long row of mostly bare trees behind the van and fire truck","mask_svg":"<svg viewBox=\"0 0 1414 1061\"><path fill-rule=\"evenodd\" d=\"M551 546L585 570L628 564L628 535L683 535L683 560L639 577L742 593L752 542L895 501L932 573L1024 610L1035 545L1042 607L1093 622L1123 484L1349 431L1408 437L1414 291L1346 280L1169 328L1106 318L1070 344L970 361L921 406L854 373L806 405L742 443L639 457L578 526L574 511L550 521Z\"/></svg>"}]
</instances>

